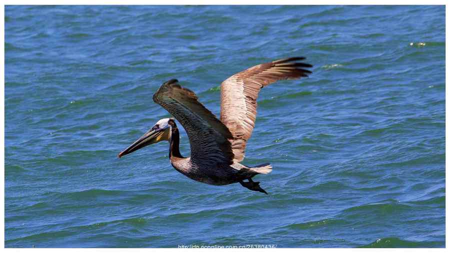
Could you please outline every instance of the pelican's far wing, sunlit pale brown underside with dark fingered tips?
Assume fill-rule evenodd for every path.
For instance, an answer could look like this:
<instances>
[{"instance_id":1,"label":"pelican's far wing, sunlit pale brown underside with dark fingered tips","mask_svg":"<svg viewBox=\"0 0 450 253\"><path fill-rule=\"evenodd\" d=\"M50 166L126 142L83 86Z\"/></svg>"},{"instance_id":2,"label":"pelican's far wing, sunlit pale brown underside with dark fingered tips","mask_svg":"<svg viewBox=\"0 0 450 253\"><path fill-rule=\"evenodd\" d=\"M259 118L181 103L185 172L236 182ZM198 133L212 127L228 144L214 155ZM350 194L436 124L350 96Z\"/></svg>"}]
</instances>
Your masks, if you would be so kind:
<instances>
[{"instance_id":1,"label":"pelican's far wing, sunlit pale brown underside with dark fingered tips","mask_svg":"<svg viewBox=\"0 0 450 253\"><path fill-rule=\"evenodd\" d=\"M296 79L311 71L312 65L299 60L304 57L279 59L250 67L224 80L220 87L220 120L233 135L234 159L244 158L245 145L253 131L256 118L256 98L259 90L277 80Z\"/></svg>"}]
</instances>

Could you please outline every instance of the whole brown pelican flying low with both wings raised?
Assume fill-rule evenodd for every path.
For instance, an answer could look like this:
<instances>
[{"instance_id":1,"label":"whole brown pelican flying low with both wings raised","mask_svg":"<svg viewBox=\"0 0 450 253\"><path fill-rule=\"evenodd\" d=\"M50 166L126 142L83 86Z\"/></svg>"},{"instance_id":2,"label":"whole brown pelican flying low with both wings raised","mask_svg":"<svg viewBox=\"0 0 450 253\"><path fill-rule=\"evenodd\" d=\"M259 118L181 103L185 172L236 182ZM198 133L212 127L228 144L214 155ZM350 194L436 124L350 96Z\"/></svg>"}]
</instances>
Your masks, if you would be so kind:
<instances>
[{"instance_id":1,"label":"whole brown pelican flying low with both wings raised","mask_svg":"<svg viewBox=\"0 0 450 253\"><path fill-rule=\"evenodd\" d=\"M228 77L220 86L220 120L198 101L193 91L181 87L178 80L164 82L154 93L153 101L170 112L186 130L190 157L183 157L179 152L179 131L173 118L160 119L118 157L167 140L170 142L170 163L187 177L214 185L239 182L250 190L267 194L259 182L251 178L259 173L269 173L272 166L265 163L249 167L240 163L256 119L256 98L259 90L270 83L311 73L304 68L312 65L299 62L303 59L279 59Z\"/></svg>"}]
</instances>

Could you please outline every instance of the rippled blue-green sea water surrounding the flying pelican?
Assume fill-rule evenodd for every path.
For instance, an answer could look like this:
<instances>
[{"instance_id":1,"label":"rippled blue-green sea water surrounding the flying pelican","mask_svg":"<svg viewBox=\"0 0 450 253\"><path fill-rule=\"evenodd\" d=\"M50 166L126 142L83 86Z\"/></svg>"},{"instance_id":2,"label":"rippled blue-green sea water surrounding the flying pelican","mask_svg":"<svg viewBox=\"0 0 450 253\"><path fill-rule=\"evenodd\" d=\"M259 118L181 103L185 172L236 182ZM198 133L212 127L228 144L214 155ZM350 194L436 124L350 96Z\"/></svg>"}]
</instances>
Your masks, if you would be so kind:
<instances>
[{"instance_id":1,"label":"rippled blue-green sea water surrounding the flying pelican","mask_svg":"<svg viewBox=\"0 0 450 253\"><path fill-rule=\"evenodd\" d=\"M6 247L444 247L444 6L6 6ZM220 83L305 56L265 87L240 184L193 181L168 143L121 159L177 78ZM181 129L181 153L189 143Z\"/></svg>"}]
</instances>

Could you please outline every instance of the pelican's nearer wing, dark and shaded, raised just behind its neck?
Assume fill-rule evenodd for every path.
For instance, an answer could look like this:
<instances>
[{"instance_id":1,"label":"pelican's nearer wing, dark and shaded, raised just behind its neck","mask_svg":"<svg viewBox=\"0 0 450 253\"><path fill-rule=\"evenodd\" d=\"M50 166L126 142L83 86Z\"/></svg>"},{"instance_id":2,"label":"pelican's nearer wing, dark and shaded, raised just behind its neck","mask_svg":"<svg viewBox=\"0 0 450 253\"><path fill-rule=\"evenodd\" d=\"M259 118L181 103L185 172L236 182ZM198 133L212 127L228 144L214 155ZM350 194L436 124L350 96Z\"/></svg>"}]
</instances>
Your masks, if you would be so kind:
<instances>
[{"instance_id":1,"label":"pelican's nearer wing, dark and shaded, raised just behind its neck","mask_svg":"<svg viewBox=\"0 0 450 253\"><path fill-rule=\"evenodd\" d=\"M228 128L206 109L195 93L171 79L163 83L153 95L153 101L172 114L189 137L192 160L231 164L232 135ZM211 164L213 167L214 164Z\"/></svg>"}]
</instances>

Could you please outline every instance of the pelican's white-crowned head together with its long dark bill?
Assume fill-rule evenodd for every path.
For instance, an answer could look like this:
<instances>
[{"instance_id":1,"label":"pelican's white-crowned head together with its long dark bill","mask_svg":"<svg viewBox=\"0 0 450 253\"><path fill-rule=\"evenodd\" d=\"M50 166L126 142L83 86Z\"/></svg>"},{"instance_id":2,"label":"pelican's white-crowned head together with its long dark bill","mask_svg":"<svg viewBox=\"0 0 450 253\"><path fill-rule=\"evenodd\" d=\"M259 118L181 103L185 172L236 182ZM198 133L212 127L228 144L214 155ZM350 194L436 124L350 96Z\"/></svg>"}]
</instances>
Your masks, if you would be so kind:
<instances>
[{"instance_id":1,"label":"pelican's white-crowned head together with its long dark bill","mask_svg":"<svg viewBox=\"0 0 450 253\"><path fill-rule=\"evenodd\" d=\"M121 151L117 156L120 158L125 154L136 151L144 146L157 143L162 140L170 141L170 124L169 121L173 121L173 118L159 119L156 124L153 125L144 135L138 138L134 143L128 146L125 150Z\"/></svg>"}]
</instances>

